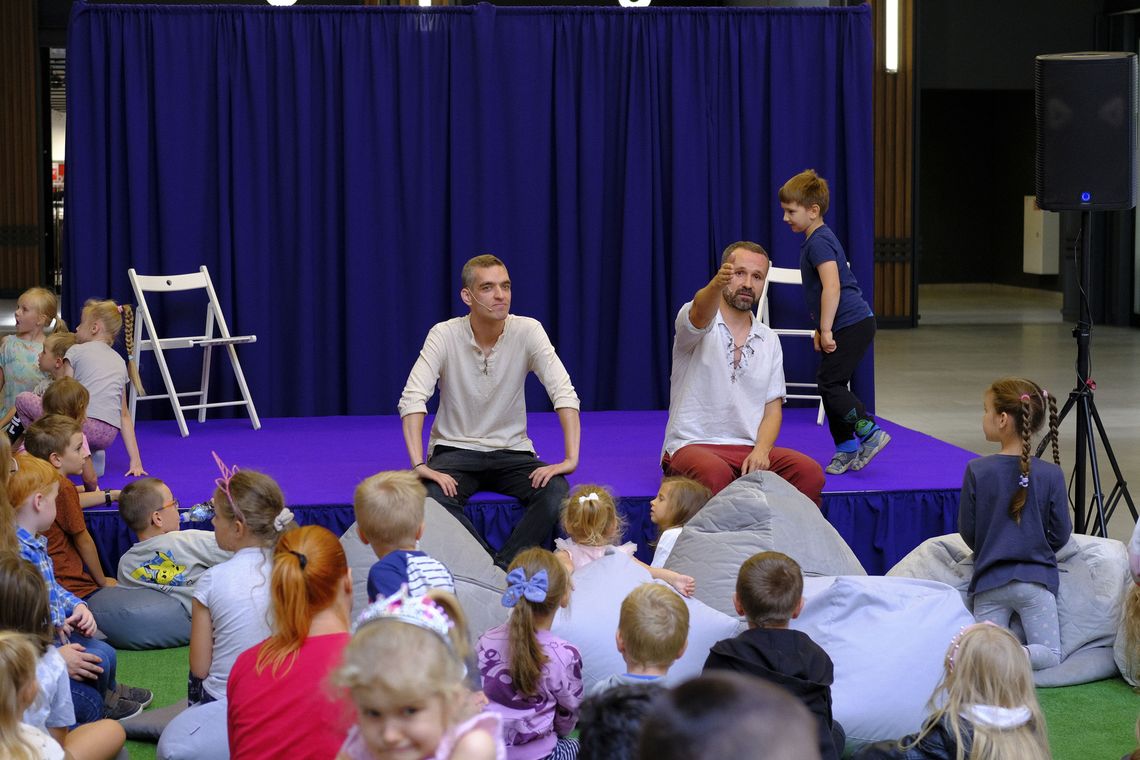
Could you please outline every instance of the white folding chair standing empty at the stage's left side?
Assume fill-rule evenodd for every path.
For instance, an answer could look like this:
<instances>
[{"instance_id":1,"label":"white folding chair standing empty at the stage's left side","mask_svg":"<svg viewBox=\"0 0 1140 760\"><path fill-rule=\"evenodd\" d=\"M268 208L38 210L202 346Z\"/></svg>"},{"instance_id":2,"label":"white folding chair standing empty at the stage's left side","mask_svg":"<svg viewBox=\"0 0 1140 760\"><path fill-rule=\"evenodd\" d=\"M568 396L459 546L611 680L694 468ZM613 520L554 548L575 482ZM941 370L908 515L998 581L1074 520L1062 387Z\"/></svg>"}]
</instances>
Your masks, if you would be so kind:
<instances>
[{"instance_id":1,"label":"white folding chair standing empty at the stage's left side","mask_svg":"<svg viewBox=\"0 0 1140 760\"><path fill-rule=\"evenodd\" d=\"M190 434L186 427L186 416L184 415L185 411L190 409L197 409L198 422L204 423L206 420L206 409L245 407L250 414L250 422L253 423L253 430L260 428L261 420L258 419L258 410L253 408L253 397L250 395L250 386L245 383L245 375L242 373L242 363L237 360L237 350L235 348L238 343L254 343L258 336L229 334L229 327L227 327L226 318L221 313L221 307L218 304L218 294L214 293L213 283L210 280L210 272L206 271L206 268L202 267L197 272L188 275L148 276L139 275L133 269L127 270L127 273L130 277L131 287L135 289L136 303L138 303L138 313L135 319L135 351L139 358L141 358L144 351L154 351L154 358L158 362L158 371L162 374L162 382L166 387L165 393L138 395L135 386L128 383L130 386L129 403L131 416L135 416L135 406L138 401L169 399L170 406L174 409L174 417L178 419L178 430L181 431L182 438ZM161 337L155 329L154 316L147 303L146 294L197 289L205 291L206 295L206 325L203 333L201 335L187 335L182 337ZM217 334L214 332L215 328ZM145 335L144 330L146 332ZM214 401L212 403L209 401L210 360L214 346L225 346L227 353L229 353L229 362L234 367L234 375L242 391L241 401ZM173 349L198 348L202 349L202 384L196 391L179 393L174 390L174 382L170 377L170 368L166 365L166 357L163 352ZM186 397L195 398L196 402L184 403L182 399Z\"/></svg>"}]
</instances>

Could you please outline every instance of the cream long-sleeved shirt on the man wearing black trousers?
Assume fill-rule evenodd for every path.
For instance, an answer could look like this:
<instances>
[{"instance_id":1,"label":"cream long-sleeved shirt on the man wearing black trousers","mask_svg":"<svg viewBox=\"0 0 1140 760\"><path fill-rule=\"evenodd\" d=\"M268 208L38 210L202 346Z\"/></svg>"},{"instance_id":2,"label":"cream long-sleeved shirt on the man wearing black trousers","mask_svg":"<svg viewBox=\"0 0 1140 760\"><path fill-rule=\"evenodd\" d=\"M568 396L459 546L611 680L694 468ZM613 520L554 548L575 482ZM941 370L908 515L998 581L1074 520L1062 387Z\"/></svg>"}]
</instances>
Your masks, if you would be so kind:
<instances>
[{"instance_id":1,"label":"cream long-sleeved shirt on the man wearing black trousers","mask_svg":"<svg viewBox=\"0 0 1140 760\"><path fill-rule=\"evenodd\" d=\"M408 375L400 417L426 414L438 383L439 411L427 441L429 457L437 446L534 453L523 394L531 371L555 409L578 409L570 375L537 319L507 314L503 334L487 354L475 343L470 316L439 322L427 333Z\"/></svg>"}]
</instances>

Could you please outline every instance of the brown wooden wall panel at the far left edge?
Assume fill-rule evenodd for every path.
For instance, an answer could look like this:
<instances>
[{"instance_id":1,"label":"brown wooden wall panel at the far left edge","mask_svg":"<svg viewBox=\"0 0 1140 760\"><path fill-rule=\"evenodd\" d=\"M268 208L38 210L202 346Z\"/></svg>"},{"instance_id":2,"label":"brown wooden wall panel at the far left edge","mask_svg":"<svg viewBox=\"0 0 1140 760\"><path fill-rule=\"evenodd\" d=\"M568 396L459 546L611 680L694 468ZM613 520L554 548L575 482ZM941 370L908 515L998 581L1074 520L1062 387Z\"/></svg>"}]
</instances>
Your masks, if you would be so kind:
<instances>
[{"instance_id":1,"label":"brown wooden wall panel at the far left edge","mask_svg":"<svg viewBox=\"0 0 1140 760\"><path fill-rule=\"evenodd\" d=\"M35 0L0 2L0 291L40 279Z\"/></svg>"}]
</instances>

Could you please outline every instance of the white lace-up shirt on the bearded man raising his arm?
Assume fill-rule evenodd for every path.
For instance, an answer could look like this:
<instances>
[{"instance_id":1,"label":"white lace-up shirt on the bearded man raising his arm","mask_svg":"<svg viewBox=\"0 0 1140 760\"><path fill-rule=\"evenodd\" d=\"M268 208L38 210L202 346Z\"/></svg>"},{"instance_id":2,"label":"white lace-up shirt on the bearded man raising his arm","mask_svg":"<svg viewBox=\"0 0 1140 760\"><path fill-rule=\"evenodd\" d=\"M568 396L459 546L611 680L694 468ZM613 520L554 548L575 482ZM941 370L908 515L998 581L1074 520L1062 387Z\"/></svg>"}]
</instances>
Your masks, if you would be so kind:
<instances>
[{"instance_id":1,"label":"white lace-up shirt on the bearded man raising his arm","mask_svg":"<svg viewBox=\"0 0 1140 760\"><path fill-rule=\"evenodd\" d=\"M690 443L754 446L764 404L787 395L780 337L767 325L752 319L748 349L733 370L734 342L720 310L698 329L689 319L692 308L690 301L677 312L662 456Z\"/></svg>"}]
</instances>

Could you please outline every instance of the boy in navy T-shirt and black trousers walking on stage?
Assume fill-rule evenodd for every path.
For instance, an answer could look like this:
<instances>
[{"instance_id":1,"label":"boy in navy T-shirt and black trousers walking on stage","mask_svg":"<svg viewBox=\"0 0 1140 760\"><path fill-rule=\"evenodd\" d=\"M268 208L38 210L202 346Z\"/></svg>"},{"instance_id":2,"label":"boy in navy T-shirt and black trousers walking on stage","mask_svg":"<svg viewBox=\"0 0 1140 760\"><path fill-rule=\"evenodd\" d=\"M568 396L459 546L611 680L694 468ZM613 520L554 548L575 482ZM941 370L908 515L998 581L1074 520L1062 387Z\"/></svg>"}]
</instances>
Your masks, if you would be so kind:
<instances>
[{"instance_id":1,"label":"boy in navy T-shirt and black trousers walking on stage","mask_svg":"<svg viewBox=\"0 0 1140 760\"><path fill-rule=\"evenodd\" d=\"M815 350L821 352L816 383L836 442L825 469L839 475L865 467L890 442L890 435L850 392L855 368L874 338L874 314L863 300L839 239L823 223L829 202L828 181L811 169L780 188L784 222L793 232L804 234L799 270L807 310L815 324Z\"/></svg>"}]
</instances>

